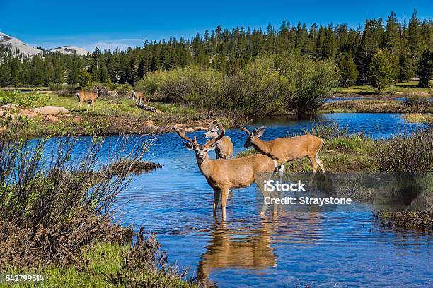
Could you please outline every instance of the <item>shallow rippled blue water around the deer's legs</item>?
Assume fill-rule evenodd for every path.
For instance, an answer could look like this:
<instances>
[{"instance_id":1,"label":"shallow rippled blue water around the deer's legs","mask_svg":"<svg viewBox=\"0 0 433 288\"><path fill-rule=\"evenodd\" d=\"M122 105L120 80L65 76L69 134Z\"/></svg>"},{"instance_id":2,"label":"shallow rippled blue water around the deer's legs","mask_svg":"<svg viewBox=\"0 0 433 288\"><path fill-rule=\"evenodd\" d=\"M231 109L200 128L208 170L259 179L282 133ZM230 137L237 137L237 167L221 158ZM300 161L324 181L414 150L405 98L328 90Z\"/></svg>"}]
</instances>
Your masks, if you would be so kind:
<instances>
[{"instance_id":1,"label":"shallow rippled blue water around the deer's legs","mask_svg":"<svg viewBox=\"0 0 433 288\"><path fill-rule=\"evenodd\" d=\"M350 133L364 130L374 138L420 127L398 114L323 114L301 121L258 119L249 128L267 125L263 138L269 140L302 133L315 121L337 121ZM202 133L189 136L202 143ZM226 134L235 154L245 149L243 132ZM116 138L109 137L106 146ZM77 152L88 138L81 142ZM212 189L182 142L175 133L158 136L146 160L163 169L134 176L117 209L122 223L158 232L168 260L189 268L188 275L207 276L220 287L432 287L433 236L382 228L370 205L306 213L286 205L276 217L268 208L262 219L262 194L253 185L234 190L226 221L215 221Z\"/></svg>"}]
</instances>

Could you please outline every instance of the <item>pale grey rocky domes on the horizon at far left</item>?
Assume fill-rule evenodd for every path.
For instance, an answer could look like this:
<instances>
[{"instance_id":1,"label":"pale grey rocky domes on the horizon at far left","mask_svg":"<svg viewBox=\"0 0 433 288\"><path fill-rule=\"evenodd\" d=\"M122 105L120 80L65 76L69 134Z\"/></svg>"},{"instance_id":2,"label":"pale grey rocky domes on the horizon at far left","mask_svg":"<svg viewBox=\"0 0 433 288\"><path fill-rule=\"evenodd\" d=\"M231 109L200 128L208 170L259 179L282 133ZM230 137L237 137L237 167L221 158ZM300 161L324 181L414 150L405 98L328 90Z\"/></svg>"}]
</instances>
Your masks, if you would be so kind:
<instances>
[{"instance_id":1,"label":"pale grey rocky domes on the horizon at far left","mask_svg":"<svg viewBox=\"0 0 433 288\"><path fill-rule=\"evenodd\" d=\"M9 35L6 35L4 33L0 32L0 46L5 46L8 49L11 50L13 54L17 54L17 51L19 53L23 54L24 56L30 56L33 57L36 54L42 54L42 50L33 48L29 46L28 44L25 44L23 41L11 37ZM79 54L79 55L86 55L89 53L86 49L76 47L76 46L62 46L57 47L54 49L49 49L47 52L60 52L64 54Z\"/></svg>"}]
</instances>

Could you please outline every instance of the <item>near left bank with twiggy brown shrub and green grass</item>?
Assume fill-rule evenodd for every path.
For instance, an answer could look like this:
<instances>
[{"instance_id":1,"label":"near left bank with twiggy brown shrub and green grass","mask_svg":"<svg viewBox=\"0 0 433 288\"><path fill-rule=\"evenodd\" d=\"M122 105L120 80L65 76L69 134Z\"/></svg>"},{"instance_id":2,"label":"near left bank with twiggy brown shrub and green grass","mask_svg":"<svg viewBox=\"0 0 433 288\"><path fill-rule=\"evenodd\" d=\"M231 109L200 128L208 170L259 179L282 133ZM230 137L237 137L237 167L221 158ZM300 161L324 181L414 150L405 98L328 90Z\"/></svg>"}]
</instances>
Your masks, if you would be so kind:
<instances>
[{"instance_id":1,"label":"near left bank with twiggy brown shrub and green grass","mask_svg":"<svg viewBox=\"0 0 433 288\"><path fill-rule=\"evenodd\" d=\"M2 275L42 274L42 287L197 287L154 235L110 217L132 173L161 167L141 160L148 145L125 136L103 157L105 138L93 135L76 155L74 135L30 140L21 120L0 137Z\"/></svg>"}]
</instances>

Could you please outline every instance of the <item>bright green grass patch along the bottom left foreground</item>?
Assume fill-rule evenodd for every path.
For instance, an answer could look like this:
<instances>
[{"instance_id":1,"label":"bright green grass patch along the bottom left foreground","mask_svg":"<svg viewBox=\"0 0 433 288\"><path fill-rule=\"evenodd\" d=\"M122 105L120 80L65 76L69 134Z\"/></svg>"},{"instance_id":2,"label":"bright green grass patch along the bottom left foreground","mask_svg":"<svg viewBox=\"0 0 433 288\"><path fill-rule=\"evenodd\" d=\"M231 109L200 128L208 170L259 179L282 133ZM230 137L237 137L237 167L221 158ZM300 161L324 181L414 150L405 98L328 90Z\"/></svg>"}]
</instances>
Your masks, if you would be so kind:
<instances>
[{"instance_id":1,"label":"bright green grass patch along the bottom left foreground","mask_svg":"<svg viewBox=\"0 0 433 288\"><path fill-rule=\"evenodd\" d=\"M55 268L48 267L42 270L17 272L16 270L7 271L5 274L37 274L44 275L45 281L37 285L13 285L13 287L131 287L132 282L126 283L118 279L120 275L131 275L132 271L125 268L125 258L122 256L130 251L130 246L101 243L86 248L83 251L83 259L86 265L76 268ZM135 280L152 280L161 277L158 270L147 270L146 273L134 275ZM117 281L120 280L120 281ZM121 282L121 283L119 283ZM149 281L150 282L150 281ZM190 284L183 281L180 277L170 277L166 287L198 287L197 284ZM4 285L4 287L8 287Z\"/></svg>"}]
</instances>

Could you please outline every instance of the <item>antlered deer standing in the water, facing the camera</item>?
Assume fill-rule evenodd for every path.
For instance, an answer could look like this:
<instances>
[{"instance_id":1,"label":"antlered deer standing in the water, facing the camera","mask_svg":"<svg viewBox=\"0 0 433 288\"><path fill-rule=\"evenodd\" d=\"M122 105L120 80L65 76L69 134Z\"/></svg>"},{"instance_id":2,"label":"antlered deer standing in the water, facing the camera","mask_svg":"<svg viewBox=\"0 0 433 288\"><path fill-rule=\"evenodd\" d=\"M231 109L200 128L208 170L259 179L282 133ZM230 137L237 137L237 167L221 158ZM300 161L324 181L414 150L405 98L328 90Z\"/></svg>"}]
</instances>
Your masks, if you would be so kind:
<instances>
[{"instance_id":1,"label":"antlered deer standing in the water, facing the camera","mask_svg":"<svg viewBox=\"0 0 433 288\"><path fill-rule=\"evenodd\" d=\"M196 136L194 136L194 140L185 136L185 126L176 129L176 133L187 141L183 145L188 150L195 151L198 167L206 178L207 184L214 189L214 217L217 215L217 205L221 194L222 217L225 218L226 203L231 188L248 187L253 184L256 178L258 183L262 184L263 181L259 179L260 175L270 176L277 167L277 161L261 154L236 159L209 159L207 154L209 150L214 150L216 143L224 137L225 130L221 124L217 138L207 141L204 145L197 143ZM265 180L265 178L261 180ZM269 197L269 193L265 189L262 189L262 192L265 197ZM266 205L264 204L260 215L263 215L265 210Z\"/></svg>"}]
</instances>

